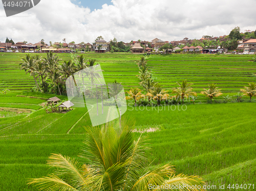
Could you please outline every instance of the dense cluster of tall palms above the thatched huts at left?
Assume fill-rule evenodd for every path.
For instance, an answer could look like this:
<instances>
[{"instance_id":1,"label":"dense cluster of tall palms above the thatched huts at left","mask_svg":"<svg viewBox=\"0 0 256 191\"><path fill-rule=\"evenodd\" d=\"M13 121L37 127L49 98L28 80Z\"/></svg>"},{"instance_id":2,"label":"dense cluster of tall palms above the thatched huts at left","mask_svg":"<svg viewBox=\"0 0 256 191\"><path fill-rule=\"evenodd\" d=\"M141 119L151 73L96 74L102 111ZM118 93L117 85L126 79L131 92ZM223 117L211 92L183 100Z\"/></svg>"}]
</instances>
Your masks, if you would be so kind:
<instances>
[{"instance_id":1,"label":"dense cluster of tall palms above the thatched huts at left","mask_svg":"<svg viewBox=\"0 0 256 191\"><path fill-rule=\"evenodd\" d=\"M72 76L76 85L74 74L93 66L96 61L95 59L86 59L83 55L77 56L72 53L70 55L71 60L60 63L61 60L57 54L53 54L51 51L47 53L46 58L27 54L19 65L20 69L25 70L26 74L29 73L33 77L37 91L67 95L66 79Z\"/></svg>"}]
</instances>

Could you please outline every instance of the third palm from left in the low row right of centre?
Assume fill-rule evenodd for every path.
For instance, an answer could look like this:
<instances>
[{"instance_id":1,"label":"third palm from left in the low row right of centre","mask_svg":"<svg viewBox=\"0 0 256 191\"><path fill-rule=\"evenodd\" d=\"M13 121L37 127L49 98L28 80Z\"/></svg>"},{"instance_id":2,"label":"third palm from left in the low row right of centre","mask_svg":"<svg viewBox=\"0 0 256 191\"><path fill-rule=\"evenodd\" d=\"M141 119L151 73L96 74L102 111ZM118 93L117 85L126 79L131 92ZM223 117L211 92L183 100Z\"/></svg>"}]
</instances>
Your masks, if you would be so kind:
<instances>
[{"instance_id":1,"label":"third palm from left in the low row right of centre","mask_svg":"<svg viewBox=\"0 0 256 191\"><path fill-rule=\"evenodd\" d=\"M181 83L177 82L179 85L178 88L173 88L173 93L176 93L176 98L182 99L182 104L184 104L184 98L188 98L189 96L197 96L197 93L193 91L193 88L190 86L192 83L188 83L187 80L182 80Z\"/></svg>"}]
</instances>

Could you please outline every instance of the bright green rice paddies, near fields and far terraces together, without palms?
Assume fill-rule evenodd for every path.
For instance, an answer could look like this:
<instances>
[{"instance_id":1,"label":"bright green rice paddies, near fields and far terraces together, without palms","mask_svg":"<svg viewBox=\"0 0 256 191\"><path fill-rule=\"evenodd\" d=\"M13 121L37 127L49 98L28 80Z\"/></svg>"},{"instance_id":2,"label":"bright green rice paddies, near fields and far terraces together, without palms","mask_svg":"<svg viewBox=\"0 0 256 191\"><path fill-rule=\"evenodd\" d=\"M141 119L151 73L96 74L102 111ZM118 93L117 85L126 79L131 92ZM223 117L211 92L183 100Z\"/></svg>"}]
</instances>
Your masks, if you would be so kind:
<instances>
[{"instance_id":1,"label":"bright green rice paddies, near fields and far terraces together, without palms","mask_svg":"<svg viewBox=\"0 0 256 191\"><path fill-rule=\"evenodd\" d=\"M20 57L24 56L14 55L16 64ZM61 59L70 59L68 54L59 56L62 56ZM216 82L225 90L225 94L232 94L247 82L255 82L251 75L255 73L255 64L248 61L251 57L157 55L150 56L147 63L155 80L164 84L167 89L174 87L176 81L185 77L195 84L193 87L197 91L201 91L207 83ZM138 73L136 62L140 55L88 54L88 58L95 58L102 65L106 81L121 81L119 79L122 78L121 82L126 89L138 85L135 75ZM2 67L3 60L0 62ZM191 75L187 71L189 66ZM47 176L53 171L46 165L51 153L61 153L79 159L78 155L83 146L83 126L91 125L91 121L87 108L74 108L68 113L46 113L42 105L46 103L47 98L56 95L25 91L33 86L33 79L25 75L24 71L19 73L19 69L15 67L3 70L10 74L11 70L17 72L12 76L5 75L5 78L0 70L1 81L9 84L8 88L11 89L7 94L0 94L0 190L31 191L37 188L27 185L29 178ZM205 74L201 69L203 67ZM239 67L241 69L234 69ZM123 73L119 73L118 68L125 68L127 75L122 76ZM208 74L208 70L215 73ZM176 73L177 80L173 77ZM220 77L223 78L222 82L218 81ZM19 83L31 80L31 86L23 88L19 83L9 83L8 78L19 80ZM165 78L169 80L165 82ZM216 81L211 81L212 79ZM206 85L203 85L204 81ZM233 83L229 84L229 81ZM224 87L225 83L227 87ZM65 96L58 97L61 100L67 99ZM134 136L137 137L143 132L150 138L152 150L146 151L146 155L154 160L153 165L172 162L177 173L199 175L208 185L217 185L217 189L211 187L207 190L234 190L227 188L229 184L247 185L247 189L236 190L255 190L255 107L255 102L188 104L183 107L130 106L124 117L134 118L136 121L135 129L138 132L135 132ZM150 132L152 130L155 131ZM220 184L225 184L225 189L220 189Z\"/></svg>"}]
</instances>

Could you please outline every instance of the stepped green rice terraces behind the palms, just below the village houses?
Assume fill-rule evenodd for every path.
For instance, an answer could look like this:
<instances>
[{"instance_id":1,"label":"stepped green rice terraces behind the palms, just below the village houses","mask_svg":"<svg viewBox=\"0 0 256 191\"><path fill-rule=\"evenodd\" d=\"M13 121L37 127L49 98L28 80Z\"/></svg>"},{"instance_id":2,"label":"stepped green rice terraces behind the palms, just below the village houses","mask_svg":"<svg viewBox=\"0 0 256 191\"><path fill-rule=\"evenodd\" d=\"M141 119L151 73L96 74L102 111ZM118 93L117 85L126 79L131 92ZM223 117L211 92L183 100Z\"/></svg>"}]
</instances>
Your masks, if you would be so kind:
<instances>
[{"instance_id":1,"label":"stepped green rice terraces behind the palms, just below the village houses","mask_svg":"<svg viewBox=\"0 0 256 191\"><path fill-rule=\"evenodd\" d=\"M69 54L57 54L60 63L70 60ZM45 57L46 54L40 54ZM86 58L96 59L104 70L107 83L115 80L122 82L125 90L138 86L138 67L136 62L141 55L134 54L84 54ZM22 53L3 53L0 56L0 89L29 90L34 80L25 71L20 71L18 63L25 57ZM176 87L176 82L187 79L194 83L197 92L208 87L209 83L217 83L222 92L234 93L248 82L255 81L256 64L252 55L151 55L147 63L155 81L160 82L168 90Z\"/></svg>"}]
</instances>

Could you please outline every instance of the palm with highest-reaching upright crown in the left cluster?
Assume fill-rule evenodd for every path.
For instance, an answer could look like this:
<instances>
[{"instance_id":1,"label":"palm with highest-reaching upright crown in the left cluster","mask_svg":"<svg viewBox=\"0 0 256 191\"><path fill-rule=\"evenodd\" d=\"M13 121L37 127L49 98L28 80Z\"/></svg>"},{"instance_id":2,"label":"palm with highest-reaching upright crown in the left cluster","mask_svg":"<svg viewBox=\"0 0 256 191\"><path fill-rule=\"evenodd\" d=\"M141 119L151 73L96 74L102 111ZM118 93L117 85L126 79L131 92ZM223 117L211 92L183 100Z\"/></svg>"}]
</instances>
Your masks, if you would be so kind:
<instances>
[{"instance_id":1,"label":"palm with highest-reaching upright crown in the left cluster","mask_svg":"<svg viewBox=\"0 0 256 191\"><path fill-rule=\"evenodd\" d=\"M46 58L44 58L44 63L46 64L46 71L48 76L52 79L55 70L57 69L59 58L57 54L53 54L52 51L47 53Z\"/></svg>"}]
</instances>

